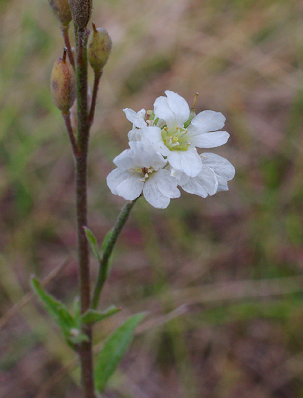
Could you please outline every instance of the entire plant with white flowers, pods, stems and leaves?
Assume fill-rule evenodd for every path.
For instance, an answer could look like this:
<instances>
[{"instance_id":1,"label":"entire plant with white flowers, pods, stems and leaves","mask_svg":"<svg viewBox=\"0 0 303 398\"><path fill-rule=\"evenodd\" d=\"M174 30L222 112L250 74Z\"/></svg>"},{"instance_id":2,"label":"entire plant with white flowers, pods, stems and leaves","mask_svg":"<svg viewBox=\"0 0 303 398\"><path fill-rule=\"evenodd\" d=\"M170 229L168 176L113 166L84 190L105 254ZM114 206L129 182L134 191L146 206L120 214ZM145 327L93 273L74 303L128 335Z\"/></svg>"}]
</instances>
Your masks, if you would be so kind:
<instances>
[{"instance_id":1,"label":"entire plant with white flowers, pods, stems and leaves","mask_svg":"<svg viewBox=\"0 0 303 398\"><path fill-rule=\"evenodd\" d=\"M127 319L104 342L93 363L92 327L120 309L111 306L98 311L100 294L109 273L109 260L132 207L139 197L156 208L166 208L171 199L180 197L178 187L202 198L227 190L227 181L235 169L225 158L212 152L198 153L197 148L214 148L225 144L229 134L221 129L225 117L218 112L195 114L179 94L165 91L153 110L135 112L124 109L132 123L128 133L129 148L116 156L117 166L107 176L107 185L114 195L127 200L116 225L106 235L99 250L97 240L87 222L87 157L90 127L94 120L98 85L111 52L108 32L92 24L92 0L48 0L60 22L64 39L63 56L54 63L51 73L51 95L61 111L71 142L76 167L76 208L78 236L79 299L74 310L47 293L37 278L31 284L43 306L57 322L67 344L78 354L83 396L95 398L106 383L131 343L134 330L143 319L139 313ZM69 25L74 23L75 52L69 40ZM94 87L88 98L88 63L94 71ZM76 122L71 121L71 108L76 103ZM74 119L74 118L73 118ZM89 247L98 262L98 276L90 286Z\"/></svg>"}]
</instances>

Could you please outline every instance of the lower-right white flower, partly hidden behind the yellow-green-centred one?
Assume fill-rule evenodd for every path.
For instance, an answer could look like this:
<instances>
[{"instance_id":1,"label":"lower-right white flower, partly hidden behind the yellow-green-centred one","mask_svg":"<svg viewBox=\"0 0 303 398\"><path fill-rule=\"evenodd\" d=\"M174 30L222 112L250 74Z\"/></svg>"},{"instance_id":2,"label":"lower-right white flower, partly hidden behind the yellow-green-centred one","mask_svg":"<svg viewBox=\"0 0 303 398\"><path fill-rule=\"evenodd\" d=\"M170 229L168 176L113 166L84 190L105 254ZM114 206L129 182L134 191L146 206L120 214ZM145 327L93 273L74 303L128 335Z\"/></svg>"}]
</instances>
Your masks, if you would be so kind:
<instances>
[{"instance_id":1,"label":"lower-right white flower, partly hidden behind the yellow-green-centred one","mask_svg":"<svg viewBox=\"0 0 303 398\"><path fill-rule=\"evenodd\" d=\"M213 153L203 153L200 158L202 171L196 177L189 177L181 171L172 169L171 175L176 177L178 185L184 191L204 198L218 191L227 191L227 181L235 175L234 166L227 159Z\"/></svg>"}]
</instances>

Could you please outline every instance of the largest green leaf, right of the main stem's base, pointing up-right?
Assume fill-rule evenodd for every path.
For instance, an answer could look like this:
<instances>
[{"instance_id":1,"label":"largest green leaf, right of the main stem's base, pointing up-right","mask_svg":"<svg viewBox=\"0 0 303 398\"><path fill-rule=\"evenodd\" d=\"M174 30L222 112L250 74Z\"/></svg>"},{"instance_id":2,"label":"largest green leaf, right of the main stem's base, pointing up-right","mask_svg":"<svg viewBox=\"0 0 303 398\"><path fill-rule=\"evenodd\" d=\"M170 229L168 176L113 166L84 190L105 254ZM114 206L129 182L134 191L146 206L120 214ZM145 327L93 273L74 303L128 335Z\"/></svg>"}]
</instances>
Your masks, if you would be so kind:
<instances>
[{"instance_id":1,"label":"largest green leaf, right of the main stem's base, pointing up-right","mask_svg":"<svg viewBox=\"0 0 303 398\"><path fill-rule=\"evenodd\" d=\"M124 324L109 336L97 358L95 383L99 393L104 391L108 379L116 370L133 339L133 333L145 313L139 313L128 318Z\"/></svg>"}]
</instances>

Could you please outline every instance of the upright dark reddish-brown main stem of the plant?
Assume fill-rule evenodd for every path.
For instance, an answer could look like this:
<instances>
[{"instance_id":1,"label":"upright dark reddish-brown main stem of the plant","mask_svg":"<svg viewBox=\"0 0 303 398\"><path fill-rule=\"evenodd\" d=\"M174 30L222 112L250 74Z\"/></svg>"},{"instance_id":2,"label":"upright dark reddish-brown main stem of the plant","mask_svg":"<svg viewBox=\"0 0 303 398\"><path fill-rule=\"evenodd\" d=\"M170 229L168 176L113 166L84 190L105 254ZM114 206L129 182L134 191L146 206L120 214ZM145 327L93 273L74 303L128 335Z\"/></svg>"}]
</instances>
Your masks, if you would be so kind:
<instances>
[{"instance_id":1,"label":"upright dark reddish-brown main stem of the plant","mask_svg":"<svg viewBox=\"0 0 303 398\"><path fill-rule=\"evenodd\" d=\"M87 32L77 32L77 122L78 122L78 150L76 156L76 201L77 201L77 229L78 229L78 256L81 313L90 307L90 269L89 248L84 227L87 226L87 155L89 140L89 120L87 101ZM79 356L81 362L82 386L84 398L95 398L92 356L92 329L90 325L84 325L82 330L88 341L81 343Z\"/></svg>"}]
</instances>

